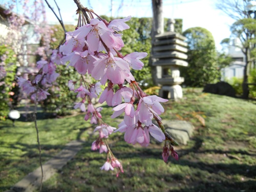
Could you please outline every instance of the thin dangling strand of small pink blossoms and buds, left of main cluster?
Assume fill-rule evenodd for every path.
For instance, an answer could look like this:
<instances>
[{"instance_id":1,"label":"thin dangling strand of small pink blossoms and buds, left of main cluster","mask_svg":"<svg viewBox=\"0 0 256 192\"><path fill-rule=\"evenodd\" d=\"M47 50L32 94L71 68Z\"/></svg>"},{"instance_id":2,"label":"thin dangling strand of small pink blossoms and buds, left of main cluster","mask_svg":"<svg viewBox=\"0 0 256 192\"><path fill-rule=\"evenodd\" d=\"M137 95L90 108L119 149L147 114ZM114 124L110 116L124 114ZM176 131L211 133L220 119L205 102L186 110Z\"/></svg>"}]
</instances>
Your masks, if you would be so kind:
<instances>
[{"instance_id":1,"label":"thin dangling strand of small pink blossoms and buds, left of main cluster","mask_svg":"<svg viewBox=\"0 0 256 192\"><path fill-rule=\"evenodd\" d=\"M106 138L111 135L115 127L110 126L103 122L100 111L101 107L95 108L92 99L98 98L98 95L101 93L102 89L100 87L100 82L90 83L83 76L81 76L82 81L80 81L80 86L75 89L78 81L69 81L68 86L71 91L77 93L77 98L80 99L80 102L75 102L74 108L80 109L82 112L85 112L84 120L91 119L91 124L98 124L95 128L94 132L99 133L99 137L92 143L92 150L99 150L99 153L107 153L107 160L105 164L101 167L104 170L114 170L114 168L118 169L117 177L120 172L123 173L123 168L118 159L113 155L108 142L106 142ZM87 106L86 106L87 103Z\"/></svg>"}]
</instances>

